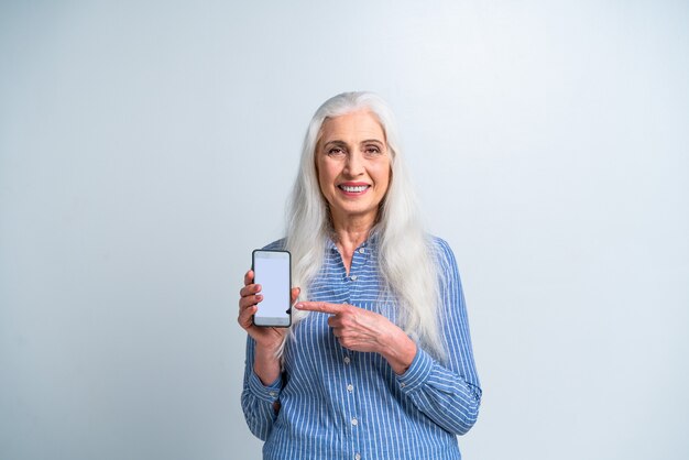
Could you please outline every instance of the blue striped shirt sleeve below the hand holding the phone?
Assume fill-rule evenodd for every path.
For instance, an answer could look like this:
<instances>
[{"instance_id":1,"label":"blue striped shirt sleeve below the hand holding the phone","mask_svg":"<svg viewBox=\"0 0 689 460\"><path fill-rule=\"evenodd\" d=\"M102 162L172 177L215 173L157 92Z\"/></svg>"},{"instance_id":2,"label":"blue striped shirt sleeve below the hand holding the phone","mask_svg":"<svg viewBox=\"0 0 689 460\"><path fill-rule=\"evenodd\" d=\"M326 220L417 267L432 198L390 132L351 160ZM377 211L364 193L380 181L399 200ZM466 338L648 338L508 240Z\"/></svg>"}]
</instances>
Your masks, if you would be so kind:
<instances>
[{"instance_id":1,"label":"blue striped shirt sleeve below the hand holding the phone","mask_svg":"<svg viewBox=\"0 0 689 460\"><path fill-rule=\"evenodd\" d=\"M244 362L244 384L242 388L242 410L251 432L266 440L277 418L282 376L270 385L264 385L253 371L255 341L247 336L247 360Z\"/></svg>"}]
</instances>

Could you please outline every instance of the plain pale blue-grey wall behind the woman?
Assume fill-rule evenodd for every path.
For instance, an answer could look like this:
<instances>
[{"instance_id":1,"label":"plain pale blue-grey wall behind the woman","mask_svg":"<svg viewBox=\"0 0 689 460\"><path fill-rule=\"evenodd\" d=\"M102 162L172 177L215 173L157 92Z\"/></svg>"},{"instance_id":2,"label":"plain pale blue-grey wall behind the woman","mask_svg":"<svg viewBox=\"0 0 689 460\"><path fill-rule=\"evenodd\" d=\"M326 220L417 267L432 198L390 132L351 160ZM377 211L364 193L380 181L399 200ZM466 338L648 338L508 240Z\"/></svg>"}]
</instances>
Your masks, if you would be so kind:
<instances>
[{"instance_id":1,"label":"plain pale blue-grey wall behind the woman","mask_svg":"<svg viewBox=\"0 0 689 460\"><path fill-rule=\"evenodd\" d=\"M0 458L258 459L238 289L306 123L396 110L466 459L689 457L683 1L2 2Z\"/></svg>"}]
</instances>

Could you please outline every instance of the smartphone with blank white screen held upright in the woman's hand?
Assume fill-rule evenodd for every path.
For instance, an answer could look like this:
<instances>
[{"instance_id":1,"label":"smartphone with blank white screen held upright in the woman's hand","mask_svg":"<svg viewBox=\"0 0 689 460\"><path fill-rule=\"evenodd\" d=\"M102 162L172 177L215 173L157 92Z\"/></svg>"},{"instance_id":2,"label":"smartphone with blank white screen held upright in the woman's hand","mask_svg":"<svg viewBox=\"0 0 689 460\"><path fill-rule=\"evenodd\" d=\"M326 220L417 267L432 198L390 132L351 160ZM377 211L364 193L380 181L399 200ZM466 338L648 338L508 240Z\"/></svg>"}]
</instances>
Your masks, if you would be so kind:
<instances>
[{"instance_id":1,"label":"smartphone with blank white screen held upright in the woman's hand","mask_svg":"<svg viewBox=\"0 0 689 460\"><path fill-rule=\"evenodd\" d=\"M255 326L286 328L292 324L292 255L288 251L256 249L252 253L253 282L263 300L253 316Z\"/></svg>"}]
</instances>

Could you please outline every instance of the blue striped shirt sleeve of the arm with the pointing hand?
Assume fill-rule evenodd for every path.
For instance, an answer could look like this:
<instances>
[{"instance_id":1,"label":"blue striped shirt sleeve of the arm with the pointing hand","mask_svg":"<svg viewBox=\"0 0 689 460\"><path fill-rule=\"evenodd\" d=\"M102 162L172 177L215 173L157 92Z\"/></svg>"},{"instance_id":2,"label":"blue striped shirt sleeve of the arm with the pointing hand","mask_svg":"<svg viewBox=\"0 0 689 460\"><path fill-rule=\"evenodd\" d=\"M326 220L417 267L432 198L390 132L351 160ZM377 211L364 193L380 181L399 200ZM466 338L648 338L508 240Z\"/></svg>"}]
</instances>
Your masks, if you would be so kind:
<instances>
[{"instance_id":1,"label":"blue striped shirt sleeve of the arm with the pointing hand","mask_svg":"<svg viewBox=\"0 0 689 460\"><path fill-rule=\"evenodd\" d=\"M478 418L481 387L457 262L447 242L435 242L442 275L440 310L447 359L441 363L417 346L414 361L397 383L424 415L447 431L463 435Z\"/></svg>"}]
</instances>

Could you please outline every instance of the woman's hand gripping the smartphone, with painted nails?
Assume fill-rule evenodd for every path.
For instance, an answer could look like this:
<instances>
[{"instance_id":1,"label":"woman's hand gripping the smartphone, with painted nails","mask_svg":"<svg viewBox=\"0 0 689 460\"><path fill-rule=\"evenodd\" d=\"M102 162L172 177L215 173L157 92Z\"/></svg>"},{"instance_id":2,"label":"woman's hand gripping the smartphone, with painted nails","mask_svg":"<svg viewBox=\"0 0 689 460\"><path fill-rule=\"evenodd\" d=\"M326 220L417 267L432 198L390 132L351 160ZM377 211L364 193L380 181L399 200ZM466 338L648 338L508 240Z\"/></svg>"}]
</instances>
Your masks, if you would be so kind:
<instances>
[{"instance_id":1,"label":"woman's hand gripping the smartphone, with painted nails","mask_svg":"<svg viewBox=\"0 0 689 460\"><path fill-rule=\"evenodd\" d=\"M239 317L237 322L256 341L261 348L277 350L288 328L273 328L254 326L253 315L259 310L259 303L263 300L261 285L253 284L253 270L244 275L244 287L239 292ZM291 303L294 304L299 296L299 288L293 287Z\"/></svg>"}]
</instances>

